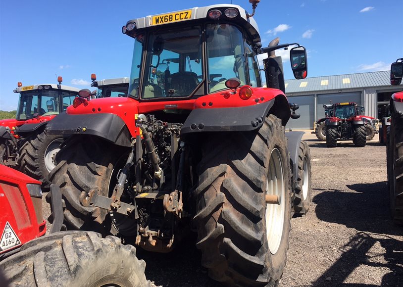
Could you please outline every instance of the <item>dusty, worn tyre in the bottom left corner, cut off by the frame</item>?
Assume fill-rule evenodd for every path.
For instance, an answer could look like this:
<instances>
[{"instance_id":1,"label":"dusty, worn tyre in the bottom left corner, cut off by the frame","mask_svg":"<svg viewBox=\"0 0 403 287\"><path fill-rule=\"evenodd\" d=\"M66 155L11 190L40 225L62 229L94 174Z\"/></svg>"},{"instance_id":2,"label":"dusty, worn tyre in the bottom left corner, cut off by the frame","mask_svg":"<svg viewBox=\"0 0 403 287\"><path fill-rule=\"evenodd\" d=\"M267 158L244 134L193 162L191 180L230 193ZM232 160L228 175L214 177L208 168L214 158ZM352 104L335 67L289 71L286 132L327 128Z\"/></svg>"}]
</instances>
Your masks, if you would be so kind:
<instances>
[{"instance_id":1,"label":"dusty, worn tyre in the bottom left corner, cut off by the frame","mask_svg":"<svg viewBox=\"0 0 403 287\"><path fill-rule=\"evenodd\" d=\"M58 232L24 244L0 263L10 286L147 287L132 245L94 232Z\"/></svg>"}]
</instances>

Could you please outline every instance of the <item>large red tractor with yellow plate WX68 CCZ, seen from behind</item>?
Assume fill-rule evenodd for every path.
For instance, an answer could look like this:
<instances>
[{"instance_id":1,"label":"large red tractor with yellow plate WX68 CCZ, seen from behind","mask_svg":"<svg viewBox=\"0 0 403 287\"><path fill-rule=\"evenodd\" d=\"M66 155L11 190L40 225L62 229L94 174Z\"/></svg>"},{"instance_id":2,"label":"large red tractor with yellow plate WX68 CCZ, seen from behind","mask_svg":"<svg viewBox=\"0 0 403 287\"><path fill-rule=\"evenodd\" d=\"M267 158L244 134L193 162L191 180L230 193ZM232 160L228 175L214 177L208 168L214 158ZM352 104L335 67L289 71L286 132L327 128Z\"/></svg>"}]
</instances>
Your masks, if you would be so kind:
<instances>
[{"instance_id":1,"label":"large red tractor with yellow plate WX68 CCZ, seen from behind","mask_svg":"<svg viewBox=\"0 0 403 287\"><path fill-rule=\"evenodd\" d=\"M193 229L211 278L277 284L290 216L309 208L310 157L302 132L285 133L298 106L274 51L290 44L261 48L253 13L217 4L123 26L135 41L128 97L88 100L82 90L47 127L70 136L50 172L69 229L158 252ZM257 54L268 56L268 88ZM290 56L295 77L306 77L305 48Z\"/></svg>"}]
</instances>

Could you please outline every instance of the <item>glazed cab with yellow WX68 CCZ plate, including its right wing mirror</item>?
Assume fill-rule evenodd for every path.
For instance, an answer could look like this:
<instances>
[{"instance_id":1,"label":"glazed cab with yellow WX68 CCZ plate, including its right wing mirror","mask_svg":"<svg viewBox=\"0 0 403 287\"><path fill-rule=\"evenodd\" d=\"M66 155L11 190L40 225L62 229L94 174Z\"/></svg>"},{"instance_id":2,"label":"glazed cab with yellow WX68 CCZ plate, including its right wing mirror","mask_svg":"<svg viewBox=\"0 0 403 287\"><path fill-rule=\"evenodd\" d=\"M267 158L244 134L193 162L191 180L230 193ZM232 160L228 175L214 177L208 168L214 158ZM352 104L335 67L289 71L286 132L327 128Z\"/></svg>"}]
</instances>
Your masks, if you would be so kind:
<instances>
[{"instance_id":1,"label":"glazed cab with yellow WX68 CCZ plate, including its right wing mirror","mask_svg":"<svg viewBox=\"0 0 403 287\"><path fill-rule=\"evenodd\" d=\"M128 21L122 32L135 39L129 97L197 98L229 90L230 79L262 87L257 54L288 44L262 49L251 16L238 5L219 4ZM294 74L306 77L305 49L291 53Z\"/></svg>"}]
</instances>

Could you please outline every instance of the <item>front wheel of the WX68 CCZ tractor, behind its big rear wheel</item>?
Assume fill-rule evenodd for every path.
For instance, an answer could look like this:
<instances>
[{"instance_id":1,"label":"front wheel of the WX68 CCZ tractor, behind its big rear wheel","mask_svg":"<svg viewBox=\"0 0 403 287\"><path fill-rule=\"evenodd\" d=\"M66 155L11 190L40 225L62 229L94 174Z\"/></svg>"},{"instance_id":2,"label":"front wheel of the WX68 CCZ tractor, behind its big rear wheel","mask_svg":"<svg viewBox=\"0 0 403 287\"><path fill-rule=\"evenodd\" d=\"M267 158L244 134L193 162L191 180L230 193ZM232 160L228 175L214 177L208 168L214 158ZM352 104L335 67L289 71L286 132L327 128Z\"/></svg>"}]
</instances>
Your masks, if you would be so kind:
<instances>
[{"instance_id":1,"label":"front wheel of the WX68 CCZ tractor, behind its big rear wheel","mask_svg":"<svg viewBox=\"0 0 403 287\"><path fill-rule=\"evenodd\" d=\"M294 211L296 215L304 215L309 210L311 201L310 168L309 145L305 141L301 141L298 153L298 175L294 198Z\"/></svg>"}]
</instances>

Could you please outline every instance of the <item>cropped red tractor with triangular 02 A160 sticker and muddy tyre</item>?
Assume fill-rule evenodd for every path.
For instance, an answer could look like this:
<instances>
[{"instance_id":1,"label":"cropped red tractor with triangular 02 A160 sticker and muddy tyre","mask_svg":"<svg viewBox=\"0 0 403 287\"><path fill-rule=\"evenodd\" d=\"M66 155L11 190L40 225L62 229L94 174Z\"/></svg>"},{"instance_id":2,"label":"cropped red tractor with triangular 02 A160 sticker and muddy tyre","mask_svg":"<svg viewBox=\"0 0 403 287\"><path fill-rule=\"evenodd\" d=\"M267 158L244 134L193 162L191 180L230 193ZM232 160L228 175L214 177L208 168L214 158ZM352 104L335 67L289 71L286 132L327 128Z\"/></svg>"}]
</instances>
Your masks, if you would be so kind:
<instances>
[{"instance_id":1,"label":"cropped red tractor with triangular 02 A160 sticker and muddy tyre","mask_svg":"<svg viewBox=\"0 0 403 287\"><path fill-rule=\"evenodd\" d=\"M0 165L1 286L150 286L145 262L120 239L102 239L94 232L58 232L62 217L54 219L51 234L44 236L40 184ZM59 197L52 208L61 214L61 195L57 188L51 192Z\"/></svg>"}]
</instances>

